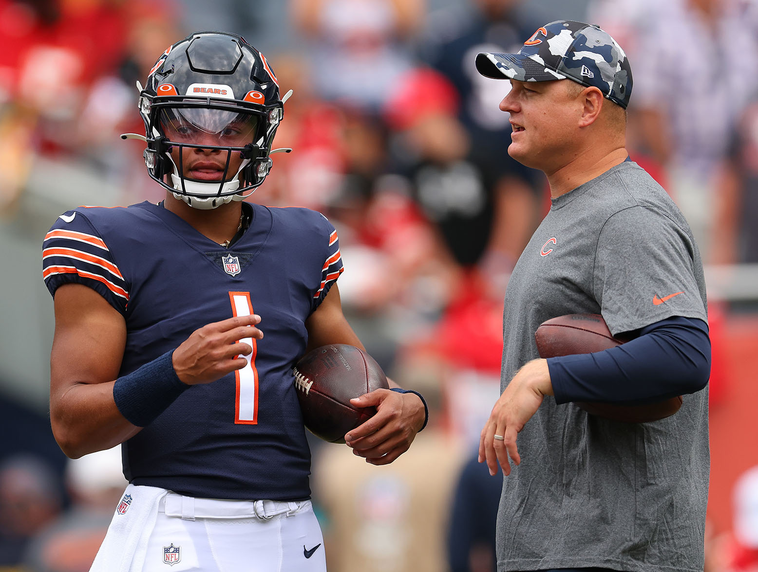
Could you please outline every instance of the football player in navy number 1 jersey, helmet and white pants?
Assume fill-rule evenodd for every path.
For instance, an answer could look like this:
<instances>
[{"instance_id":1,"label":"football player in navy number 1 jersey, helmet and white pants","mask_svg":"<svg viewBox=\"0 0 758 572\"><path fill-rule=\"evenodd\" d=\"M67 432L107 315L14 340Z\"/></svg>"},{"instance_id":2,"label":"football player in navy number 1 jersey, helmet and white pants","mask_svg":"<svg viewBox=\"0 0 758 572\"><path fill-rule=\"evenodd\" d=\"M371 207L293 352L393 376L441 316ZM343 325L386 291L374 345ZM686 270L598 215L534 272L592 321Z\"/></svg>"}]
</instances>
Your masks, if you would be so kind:
<instances>
[{"instance_id":1,"label":"football player in navy number 1 jersey, helmet and white pants","mask_svg":"<svg viewBox=\"0 0 758 572\"><path fill-rule=\"evenodd\" d=\"M124 138L146 141L164 201L67 211L43 253L53 433L74 459L123 443L130 482L92 570L325 570L292 368L362 344L330 222L243 201L287 96L260 52L219 32L172 45L138 87L146 136ZM393 389L354 400L377 414L346 442L374 465L426 422L421 396Z\"/></svg>"}]
</instances>

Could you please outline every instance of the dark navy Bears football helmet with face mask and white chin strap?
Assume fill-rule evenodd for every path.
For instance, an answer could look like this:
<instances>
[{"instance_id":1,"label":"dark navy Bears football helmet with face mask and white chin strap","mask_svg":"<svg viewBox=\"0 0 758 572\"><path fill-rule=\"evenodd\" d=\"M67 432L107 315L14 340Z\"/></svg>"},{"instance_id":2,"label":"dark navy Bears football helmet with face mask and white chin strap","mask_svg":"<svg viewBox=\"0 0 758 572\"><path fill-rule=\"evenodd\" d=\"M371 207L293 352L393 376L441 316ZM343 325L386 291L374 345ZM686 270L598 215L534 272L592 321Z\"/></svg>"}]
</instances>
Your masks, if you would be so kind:
<instances>
[{"instance_id":1,"label":"dark navy Bears football helmet with face mask and white chin strap","mask_svg":"<svg viewBox=\"0 0 758 572\"><path fill-rule=\"evenodd\" d=\"M152 179L189 206L212 209L242 201L264 182L283 101L268 61L245 39L196 32L158 58L139 92L139 113ZM142 138L122 135L127 136ZM172 151L177 149L179 160L174 161ZM220 180L218 172L184 173L186 154L197 149L211 150L217 157L221 153L218 169L225 166ZM240 157L234 173L230 165L236 166Z\"/></svg>"}]
</instances>

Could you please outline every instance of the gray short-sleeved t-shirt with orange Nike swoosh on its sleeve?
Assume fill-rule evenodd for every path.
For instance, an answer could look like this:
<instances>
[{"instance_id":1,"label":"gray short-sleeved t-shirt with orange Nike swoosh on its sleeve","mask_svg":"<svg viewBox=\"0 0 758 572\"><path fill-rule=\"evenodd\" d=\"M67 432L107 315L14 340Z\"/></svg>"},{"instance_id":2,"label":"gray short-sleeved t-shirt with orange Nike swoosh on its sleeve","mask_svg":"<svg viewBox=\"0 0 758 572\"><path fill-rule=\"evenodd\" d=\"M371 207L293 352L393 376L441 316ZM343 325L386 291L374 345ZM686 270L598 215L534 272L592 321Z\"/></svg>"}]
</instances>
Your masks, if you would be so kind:
<instances>
[{"instance_id":1,"label":"gray short-sleeved t-shirt with orange Nike swoosh on its sleeve","mask_svg":"<svg viewBox=\"0 0 758 572\"><path fill-rule=\"evenodd\" d=\"M553 200L518 259L503 312L501 389L536 359L547 319L600 313L613 334L671 316L707 320L700 253L678 208L625 162ZM708 393L626 424L546 397L503 482L497 569L703 570Z\"/></svg>"}]
</instances>

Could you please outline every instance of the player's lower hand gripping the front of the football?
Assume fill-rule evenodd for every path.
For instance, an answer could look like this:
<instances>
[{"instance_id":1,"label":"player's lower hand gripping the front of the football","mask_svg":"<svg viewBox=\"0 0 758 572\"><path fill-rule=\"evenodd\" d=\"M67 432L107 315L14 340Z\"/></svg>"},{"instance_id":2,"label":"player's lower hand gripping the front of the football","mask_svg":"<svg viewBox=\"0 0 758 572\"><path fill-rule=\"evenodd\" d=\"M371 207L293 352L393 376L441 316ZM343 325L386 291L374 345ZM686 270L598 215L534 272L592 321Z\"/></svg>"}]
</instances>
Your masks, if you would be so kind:
<instances>
[{"instance_id":1,"label":"player's lower hand gripping the front of the football","mask_svg":"<svg viewBox=\"0 0 758 572\"><path fill-rule=\"evenodd\" d=\"M406 452L424 424L424 404L414 393L379 389L350 403L377 408L376 415L345 435L352 452L372 465L389 465Z\"/></svg>"}]
</instances>

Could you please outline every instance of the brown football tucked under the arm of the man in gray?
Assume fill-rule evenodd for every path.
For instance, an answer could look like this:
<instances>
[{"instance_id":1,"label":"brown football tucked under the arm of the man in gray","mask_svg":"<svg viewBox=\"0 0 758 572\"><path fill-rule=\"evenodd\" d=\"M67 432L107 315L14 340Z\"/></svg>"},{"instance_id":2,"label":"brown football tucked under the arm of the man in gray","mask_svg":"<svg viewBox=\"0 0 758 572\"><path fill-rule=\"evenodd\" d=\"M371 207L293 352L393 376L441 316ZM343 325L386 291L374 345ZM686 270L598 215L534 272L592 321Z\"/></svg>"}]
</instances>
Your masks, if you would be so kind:
<instances>
[{"instance_id":1,"label":"brown football tucked under the arm of the man in gray","mask_svg":"<svg viewBox=\"0 0 758 572\"><path fill-rule=\"evenodd\" d=\"M599 352L628 341L613 337L600 314L568 314L547 320L537 328L534 339L542 358ZM644 406L584 402L575 402L575 405L591 415L613 421L645 423L674 415L681 407L681 396Z\"/></svg>"}]
</instances>

